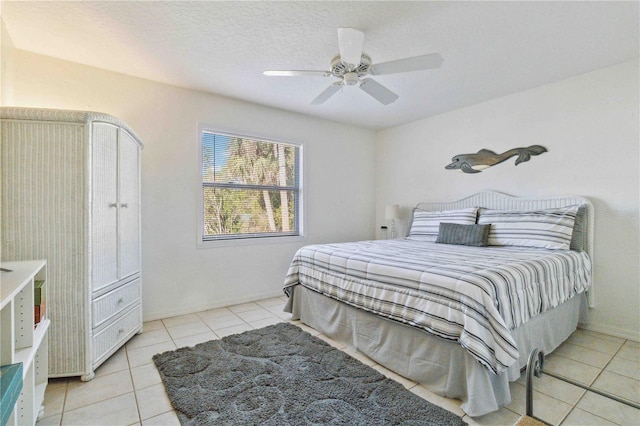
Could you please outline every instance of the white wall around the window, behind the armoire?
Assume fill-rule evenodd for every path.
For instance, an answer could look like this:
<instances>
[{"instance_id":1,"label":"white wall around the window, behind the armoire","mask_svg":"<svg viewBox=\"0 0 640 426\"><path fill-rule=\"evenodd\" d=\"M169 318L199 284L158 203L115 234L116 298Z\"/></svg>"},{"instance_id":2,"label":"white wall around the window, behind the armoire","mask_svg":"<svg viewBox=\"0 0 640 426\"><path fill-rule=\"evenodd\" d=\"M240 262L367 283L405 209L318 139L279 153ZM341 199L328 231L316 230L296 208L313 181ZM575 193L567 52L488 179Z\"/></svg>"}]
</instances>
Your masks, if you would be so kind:
<instances>
[{"instance_id":1,"label":"white wall around the window, behind the armoire","mask_svg":"<svg viewBox=\"0 0 640 426\"><path fill-rule=\"evenodd\" d=\"M374 133L24 51L13 52L15 106L91 110L145 143L145 320L282 294L304 244L374 236ZM302 143L306 241L197 248L198 123Z\"/></svg>"}]
</instances>

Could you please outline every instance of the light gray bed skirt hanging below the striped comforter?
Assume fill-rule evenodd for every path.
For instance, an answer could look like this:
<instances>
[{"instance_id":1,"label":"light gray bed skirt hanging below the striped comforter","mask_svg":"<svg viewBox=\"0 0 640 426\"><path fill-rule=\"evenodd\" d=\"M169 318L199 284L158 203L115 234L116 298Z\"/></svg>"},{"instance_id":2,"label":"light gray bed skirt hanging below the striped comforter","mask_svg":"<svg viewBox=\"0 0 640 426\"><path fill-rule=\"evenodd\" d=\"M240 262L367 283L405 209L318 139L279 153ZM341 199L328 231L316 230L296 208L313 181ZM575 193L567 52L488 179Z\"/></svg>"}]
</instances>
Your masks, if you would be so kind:
<instances>
[{"instance_id":1,"label":"light gray bed skirt hanging below the striped comforter","mask_svg":"<svg viewBox=\"0 0 640 426\"><path fill-rule=\"evenodd\" d=\"M380 365L425 386L432 392L460 399L470 416L481 416L511 403L509 382L520 377L529 353L556 349L587 315L587 300L579 294L512 331L520 359L495 375L457 342L382 318L309 290L301 285L285 311L293 319L364 353Z\"/></svg>"}]
</instances>

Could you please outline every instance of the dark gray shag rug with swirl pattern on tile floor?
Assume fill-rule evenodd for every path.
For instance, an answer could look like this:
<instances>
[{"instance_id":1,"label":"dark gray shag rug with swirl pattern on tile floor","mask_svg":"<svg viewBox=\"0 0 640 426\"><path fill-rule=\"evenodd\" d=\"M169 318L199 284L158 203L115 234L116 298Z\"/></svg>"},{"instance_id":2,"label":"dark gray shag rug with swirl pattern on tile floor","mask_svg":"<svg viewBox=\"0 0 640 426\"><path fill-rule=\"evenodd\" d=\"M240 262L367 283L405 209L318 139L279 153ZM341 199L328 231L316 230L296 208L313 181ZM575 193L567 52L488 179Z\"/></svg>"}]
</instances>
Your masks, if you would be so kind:
<instances>
[{"instance_id":1,"label":"dark gray shag rug with swirl pattern on tile floor","mask_svg":"<svg viewBox=\"0 0 640 426\"><path fill-rule=\"evenodd\" d=\"M299 327L154 355L183 425L464 425Z\"/></svg>"}]
</instances>

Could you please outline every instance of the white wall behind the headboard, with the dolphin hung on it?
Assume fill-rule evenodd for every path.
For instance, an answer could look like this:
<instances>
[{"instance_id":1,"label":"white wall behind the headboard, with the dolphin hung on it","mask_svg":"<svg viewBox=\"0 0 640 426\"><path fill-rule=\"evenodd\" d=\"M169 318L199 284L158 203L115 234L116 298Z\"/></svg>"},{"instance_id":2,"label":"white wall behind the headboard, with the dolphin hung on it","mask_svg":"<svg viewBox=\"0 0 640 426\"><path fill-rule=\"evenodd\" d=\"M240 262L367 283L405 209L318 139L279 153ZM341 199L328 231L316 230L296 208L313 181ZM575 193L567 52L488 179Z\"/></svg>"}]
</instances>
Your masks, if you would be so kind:
<instances>
[{"instance_id":1,"label":"white wall behind the headboard, with the dolphin hung on it","mask_svg":"<svg viewBox=\"0 0 640 426\"><path fill-rule=\"evenodd\" d=\"M595 206L595 297L588 328L640 339L638 61L416 121L377 134L376 212L400 203L405 227L420 201L493 189L578 194ZM457 154L539 144L482 173L445 170Z\"/></svg>"}]
</instances>

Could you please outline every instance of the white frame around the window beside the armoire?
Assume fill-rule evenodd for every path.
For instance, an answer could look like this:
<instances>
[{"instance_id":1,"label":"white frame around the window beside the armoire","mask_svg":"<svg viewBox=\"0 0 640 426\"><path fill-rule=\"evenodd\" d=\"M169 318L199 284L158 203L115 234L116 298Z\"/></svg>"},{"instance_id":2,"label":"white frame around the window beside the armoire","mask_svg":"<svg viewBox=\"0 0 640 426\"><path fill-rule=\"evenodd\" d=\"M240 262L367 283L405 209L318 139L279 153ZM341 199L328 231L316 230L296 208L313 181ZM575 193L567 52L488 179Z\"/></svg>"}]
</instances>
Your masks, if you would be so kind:
<instances>
[{"instance_id":1,"label":"white frame around the window beside the armoire","mask_svg":"<svg viewBox=\"0 0 640 426\"><path fill-rule=\"evenodd\" d=\"M270 235L270 236L227 236L220 238L206 238L204 234L204 185L202 181L202 133L209 132L214 134L227 135L232 137L247 138L260 140L264 142L283 143L293 145L298 148L298 233L297 235ZM291 243L305 241L305 197L304 197L304 144L300 142L289 142L282 138L271 137L259 134L246 134L232 129L225 129L219 126L211 126L207 124L198 125L198 240L199 248L220 247L220 246L236 246L236 245L258 245L258 244L274 244L274 243Z\"/></svg>"}]
</instances>

